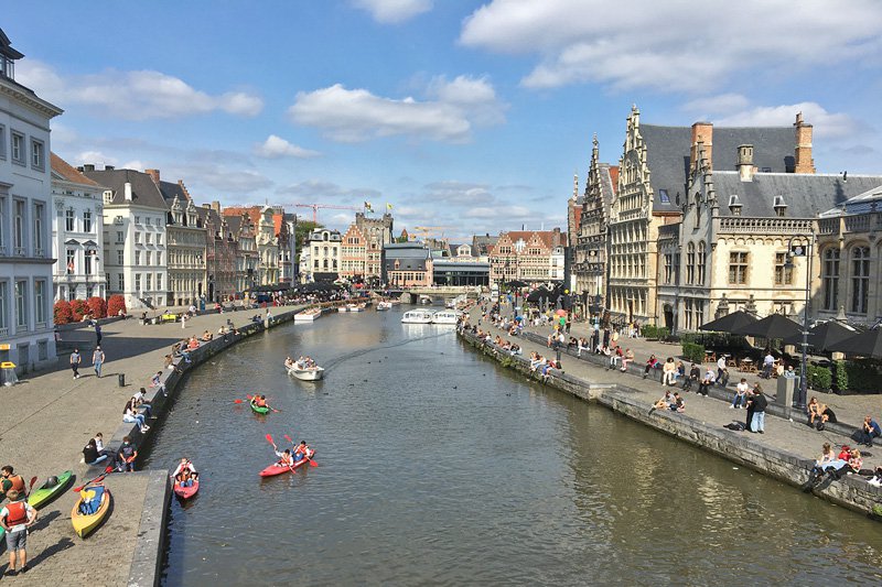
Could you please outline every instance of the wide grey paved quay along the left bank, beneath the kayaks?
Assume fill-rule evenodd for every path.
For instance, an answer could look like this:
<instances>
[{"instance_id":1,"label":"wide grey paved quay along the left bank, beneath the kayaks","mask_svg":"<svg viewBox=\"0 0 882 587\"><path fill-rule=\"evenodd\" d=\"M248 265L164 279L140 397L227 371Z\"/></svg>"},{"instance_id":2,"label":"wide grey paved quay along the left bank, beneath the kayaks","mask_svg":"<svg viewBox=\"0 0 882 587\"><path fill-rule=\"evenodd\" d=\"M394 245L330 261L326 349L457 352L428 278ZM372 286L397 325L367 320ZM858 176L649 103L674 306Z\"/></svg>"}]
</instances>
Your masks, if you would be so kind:
<instances>
[{"instance_id":1,"label":"wide grey paved quay along the left bank, beneath the kayaks","mask_svg":"<svg viewBox=\"0 0 882 587\"><path fill-rule=\"evenodd\" d=\"M271 308L278 314L284 308ZM155 314L151 313L151 315ZM184 337L204 330L217 333L230 319L244 326L255 314L248 309L205 314L180 323L142 325L129 318L101 327L101 349L106 362L101 378L92 367L92 351L84 352L82 377L73 378L68 356L58 358L54 370L28 373L11 388L0 387L0 464L12 465L26 481L37 477L39 487L49 476L73 469L76 480L86 480L85 464L80 463L83 447L97 432L106 442L122 424L122 409L139 387L149 387L150 378L162 370L163 359L171 346ZM95 330L78 328L62 330L63 343L94 348ZM66 345L65 345L66 346ZM125 373L126 385L119 387L118 373ZM92 585L125 585L141 520L147 490L146 476L114 474L106 479L114 496L112 510L104 526L86 540L80 540L71 525L71 509L76 496L66 491L40 510L40 521L28 537L31 570L4 581L28 585L77 583ZM84 565L85 561L90 561ZM0 544L0 570L7 568L6 543ZM72 580L73 579L73 580Z\"/></svg>"}]
</instances>

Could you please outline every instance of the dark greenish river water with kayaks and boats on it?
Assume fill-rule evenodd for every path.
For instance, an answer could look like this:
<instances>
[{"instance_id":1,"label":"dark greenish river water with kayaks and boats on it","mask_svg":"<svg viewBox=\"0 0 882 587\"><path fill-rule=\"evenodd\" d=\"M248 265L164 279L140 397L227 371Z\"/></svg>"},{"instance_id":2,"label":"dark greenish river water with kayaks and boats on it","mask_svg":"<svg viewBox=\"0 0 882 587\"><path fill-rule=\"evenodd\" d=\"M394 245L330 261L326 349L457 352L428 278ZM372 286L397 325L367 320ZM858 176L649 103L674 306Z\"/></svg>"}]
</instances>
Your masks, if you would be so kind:
<instances>
[{"instance_id":1,"label":"dark greenish river water with kayaks and boats on it","mask_svg":"<svg viewBox=\"0 0 882 587\"><path fill-rule=\"evenodd\" d=\"M172 503L165 585L882 580L878 523L399 318L291 325L190 377L148 463L203 480ZM326 379L289 379L287 354ZM252 391L282 412L233 402ZM320 466L261 480L266 434Z\"/></svg>"}]
</instances>

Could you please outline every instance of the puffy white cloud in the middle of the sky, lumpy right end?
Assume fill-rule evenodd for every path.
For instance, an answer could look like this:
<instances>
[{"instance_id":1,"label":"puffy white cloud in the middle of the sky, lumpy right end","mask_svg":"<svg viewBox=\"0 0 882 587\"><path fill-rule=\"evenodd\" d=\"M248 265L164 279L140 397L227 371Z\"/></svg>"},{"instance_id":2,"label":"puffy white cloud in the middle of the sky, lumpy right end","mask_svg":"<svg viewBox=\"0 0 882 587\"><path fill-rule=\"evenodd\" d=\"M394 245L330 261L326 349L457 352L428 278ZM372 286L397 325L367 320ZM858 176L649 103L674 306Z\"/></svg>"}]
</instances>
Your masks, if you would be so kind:
<instances>
[{"instance_id":1,"label":"puffy white cloud in the middle of the sky, lumpy right end","mask_svg":"<svg viewBox=\"0 0 882 587\"><path fill-rule=\"evenodd\" d=\"M394 99L335 84L299 93L288 113L295 123L320 128L341 142L394 135L462 142L471 138L473 127L504 121L505 105L485 78L437 77L427 95L430 99L422 101Z\"/></svg>"}]
</instances>

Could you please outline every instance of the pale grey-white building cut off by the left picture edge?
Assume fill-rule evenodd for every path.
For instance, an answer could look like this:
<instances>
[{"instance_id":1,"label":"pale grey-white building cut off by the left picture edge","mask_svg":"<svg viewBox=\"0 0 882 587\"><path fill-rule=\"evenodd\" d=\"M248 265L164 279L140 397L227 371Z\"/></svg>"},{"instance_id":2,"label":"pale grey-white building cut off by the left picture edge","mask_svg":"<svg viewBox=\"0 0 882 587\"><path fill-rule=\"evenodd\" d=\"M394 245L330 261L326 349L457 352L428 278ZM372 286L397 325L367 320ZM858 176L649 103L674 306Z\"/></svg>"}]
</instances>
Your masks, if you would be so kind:
<instances>
[{"instance_id":1,"label":"pale grey-white building cut off by the left picture edge","mask_svg":"<svg viewBox=\"0 0 882 587\"><path fill-rule=\"evenodd\" d=\"M50 121L62 109L15 83L0 30L0 361L22 373L55 360Z\"/></svg>"}]
</instances>

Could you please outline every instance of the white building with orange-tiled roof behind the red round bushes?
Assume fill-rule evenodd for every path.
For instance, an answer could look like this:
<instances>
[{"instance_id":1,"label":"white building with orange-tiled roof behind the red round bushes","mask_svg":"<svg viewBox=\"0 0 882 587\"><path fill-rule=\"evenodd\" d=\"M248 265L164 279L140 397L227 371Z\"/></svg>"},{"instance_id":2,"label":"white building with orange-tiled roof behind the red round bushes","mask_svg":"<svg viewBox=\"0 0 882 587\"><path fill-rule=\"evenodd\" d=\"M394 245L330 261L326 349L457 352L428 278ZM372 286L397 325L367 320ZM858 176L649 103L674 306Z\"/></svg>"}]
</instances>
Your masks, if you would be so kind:
<instances>
[{"instance_id":1,"label":"white building with orange-tiled roof behind the red round bushes","mask_svg":"<svg viewBox=\"0 0 882 587\"><path fill-rule=\"evenodd\" d=\"M104 187L52 153L52 282L55 301L105 297Z\"/></svg>"}]
</instances>

